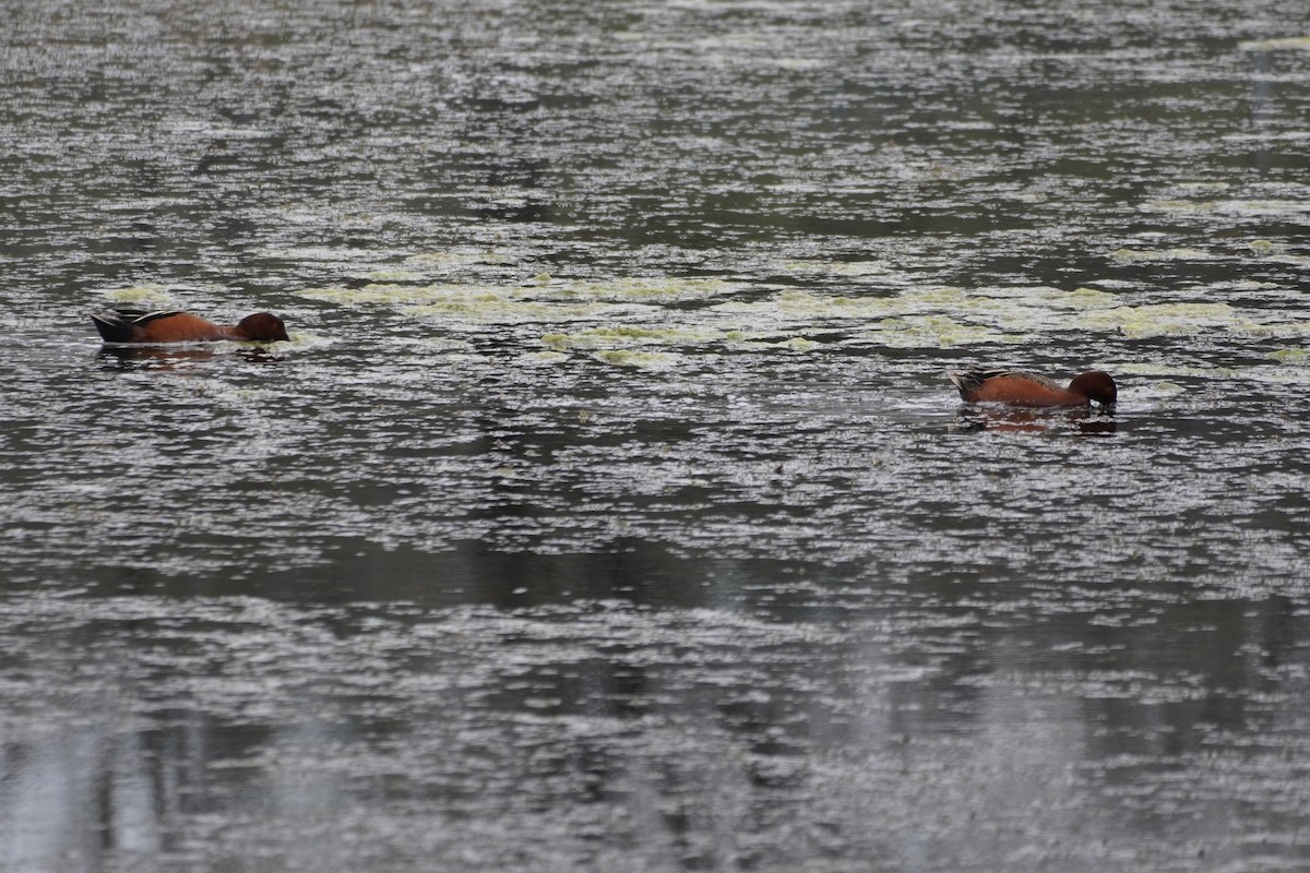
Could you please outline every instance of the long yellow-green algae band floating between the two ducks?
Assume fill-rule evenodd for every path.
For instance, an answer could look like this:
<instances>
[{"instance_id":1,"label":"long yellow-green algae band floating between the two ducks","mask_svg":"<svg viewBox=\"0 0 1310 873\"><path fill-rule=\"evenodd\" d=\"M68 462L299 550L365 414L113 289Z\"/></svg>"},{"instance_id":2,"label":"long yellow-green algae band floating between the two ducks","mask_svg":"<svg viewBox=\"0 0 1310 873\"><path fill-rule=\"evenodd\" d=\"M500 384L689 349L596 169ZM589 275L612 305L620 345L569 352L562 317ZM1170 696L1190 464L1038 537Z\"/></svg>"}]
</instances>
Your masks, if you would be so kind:
<instances>
[{"instance_id":1,"label":"long yellow-green algae band floating between the two ducks","mask_svg":"<svg viewBox=\"0 0 1310 873\"><path fill-rule=\"evenodd\" d=\"M1210 258L1192 249L1131 251L1120 257L1141 260ZM584 330L557 327L544 332L541 344L553 352L705 347L710 343L752 343L752 348L803 352L815 348L803 334L812 332L823 322L857 325L865 331L863 339L895 348L1018 344L1073 330L1107 330L1129 338L1213 327L1254 334L1292 331L1288 325L1262 326L1226 302L1125 306L1121 294L1089 287L1064 291L1048 285L975 289L933 285L861 296L787 288L715 302L698 308L694 315L667 308L667 304L701 301L743 288L747 285L717 279L563 281L544 277L538 284L520 285L373 283L363 288L316 288L301 294L350 306L393 306L411 318L466 326L595 322ZM679 321L667 323L671 314Z\"/></svg>"}]
</instances>

